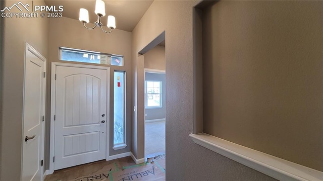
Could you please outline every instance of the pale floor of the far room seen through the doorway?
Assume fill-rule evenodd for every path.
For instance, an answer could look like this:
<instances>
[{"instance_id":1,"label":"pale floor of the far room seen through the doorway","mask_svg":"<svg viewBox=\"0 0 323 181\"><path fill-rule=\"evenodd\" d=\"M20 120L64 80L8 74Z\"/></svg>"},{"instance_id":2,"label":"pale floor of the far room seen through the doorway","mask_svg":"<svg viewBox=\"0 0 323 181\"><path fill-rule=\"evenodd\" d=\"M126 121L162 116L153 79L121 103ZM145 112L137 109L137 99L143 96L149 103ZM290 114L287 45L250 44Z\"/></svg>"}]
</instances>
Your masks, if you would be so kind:
<instances>
[{"instance_id":1,"label":"pale floor of the far room seen through the doorway","mask_svg":"<svg viewBox=\"0 0 323 181\"><path fill-rule=\"evenodd\" d=\"M145 123L145 156L166 152L165 121Z\"/></svg>"}]
</instances>

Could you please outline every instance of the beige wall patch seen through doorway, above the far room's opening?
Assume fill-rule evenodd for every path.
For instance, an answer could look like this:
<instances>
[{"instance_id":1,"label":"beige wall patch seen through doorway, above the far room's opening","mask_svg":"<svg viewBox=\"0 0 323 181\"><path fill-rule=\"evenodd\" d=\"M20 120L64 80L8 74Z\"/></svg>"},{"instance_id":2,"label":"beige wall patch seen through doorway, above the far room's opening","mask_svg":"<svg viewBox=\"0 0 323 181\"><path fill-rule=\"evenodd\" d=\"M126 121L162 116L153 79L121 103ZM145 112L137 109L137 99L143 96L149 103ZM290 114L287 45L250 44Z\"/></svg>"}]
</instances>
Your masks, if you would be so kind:
<instances>
[{"instance_id":1,"label":"beige wall patch seen through doorway, above the far room's opening","mask_svg":"<svg viewBox=\"0 0 323 181\"><path fill-rule=\"evenodd\" d=\"M145 68L165 70L165 46L157 45L145 53Z\"/></svg>"}]
</instances>

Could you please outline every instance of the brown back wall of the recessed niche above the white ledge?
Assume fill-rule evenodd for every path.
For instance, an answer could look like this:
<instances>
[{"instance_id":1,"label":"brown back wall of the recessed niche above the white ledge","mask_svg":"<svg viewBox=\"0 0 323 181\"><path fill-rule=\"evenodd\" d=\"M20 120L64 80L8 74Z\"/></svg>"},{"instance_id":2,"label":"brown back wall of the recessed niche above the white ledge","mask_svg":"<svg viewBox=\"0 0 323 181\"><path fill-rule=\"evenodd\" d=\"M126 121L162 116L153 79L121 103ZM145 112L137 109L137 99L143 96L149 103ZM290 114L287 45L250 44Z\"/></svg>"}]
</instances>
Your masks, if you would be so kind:
<instances>
[{"instance_id":1,"label":"brown back wall of the recessed niche above the white ledge","mask_svg":"<svg viewBox=\"0 0 323 181\"><path fill-rule=\"evenodd\" d=\"M204 132L323 171L323 2L204 14Z\"/></svg>"}]
</instances>

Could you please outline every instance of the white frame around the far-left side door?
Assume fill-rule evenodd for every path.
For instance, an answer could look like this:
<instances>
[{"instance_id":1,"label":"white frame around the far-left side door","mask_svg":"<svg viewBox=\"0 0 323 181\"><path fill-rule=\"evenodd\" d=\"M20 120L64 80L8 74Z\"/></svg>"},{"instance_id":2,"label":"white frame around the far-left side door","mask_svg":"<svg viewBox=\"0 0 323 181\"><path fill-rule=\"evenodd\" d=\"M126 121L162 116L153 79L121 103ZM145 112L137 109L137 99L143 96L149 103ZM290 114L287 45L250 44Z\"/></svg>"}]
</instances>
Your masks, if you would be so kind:
<instances>
[{"instance_id":1,"label":"white frame around the far-left side door","mask_svg":"<svg viewBox=\"0 0 323 181\"><path fill-rule=\"evenodd\" d=\"M23 86L23 100L25 100L25 78L26 78L26 61L27 61L27 52L32 53L33 55L35 55L37 58L39 58L40 60L43 61L43 66L44 66L44 74L46 75L47 73L47 69L46 69L46 58L44 56L42 56L35 48L33 48L31 45L29 45L27 42L25 42L25 54L24 54L24 86ZM43 87L42 87L42 91L43 91L43 115L46 118L45 115L45 109L46 109L46 78L43 78ZM21 139L21 174L20 174L20 179L22 179L22 173L23 173L23 151L24 151L24 114L25 114L25 101L23 101L23 110L22 110L22 139ZM41 159L44 160L44 148L45 148L45 122L42 121L41 122L41 137L42 137L42 141L41 141ZM44 176L44 165L41 166L42 169L40 169L40 174L41 174L41 178L43 178Z\"/></svg>"}]
</instances>

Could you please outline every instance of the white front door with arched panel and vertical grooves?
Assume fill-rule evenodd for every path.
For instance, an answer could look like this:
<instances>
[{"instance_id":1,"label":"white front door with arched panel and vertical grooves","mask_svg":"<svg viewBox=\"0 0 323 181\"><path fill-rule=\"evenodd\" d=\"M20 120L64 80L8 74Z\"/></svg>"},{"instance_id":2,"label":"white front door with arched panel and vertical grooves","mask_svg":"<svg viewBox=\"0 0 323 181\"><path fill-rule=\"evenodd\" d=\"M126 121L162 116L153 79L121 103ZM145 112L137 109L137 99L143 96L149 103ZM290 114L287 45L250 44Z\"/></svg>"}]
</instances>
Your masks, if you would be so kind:
<instances>
[{"instance_id":1,"label":"white front door with arched panel and vertical grooves","mask_svg":"<svg viewBox=\"0 0 323 181\"><path fill-rule=\"evenodd\" d=\"M105 159L106 76L57 66L54 170Z\"/></svg>"}]
</instances>

